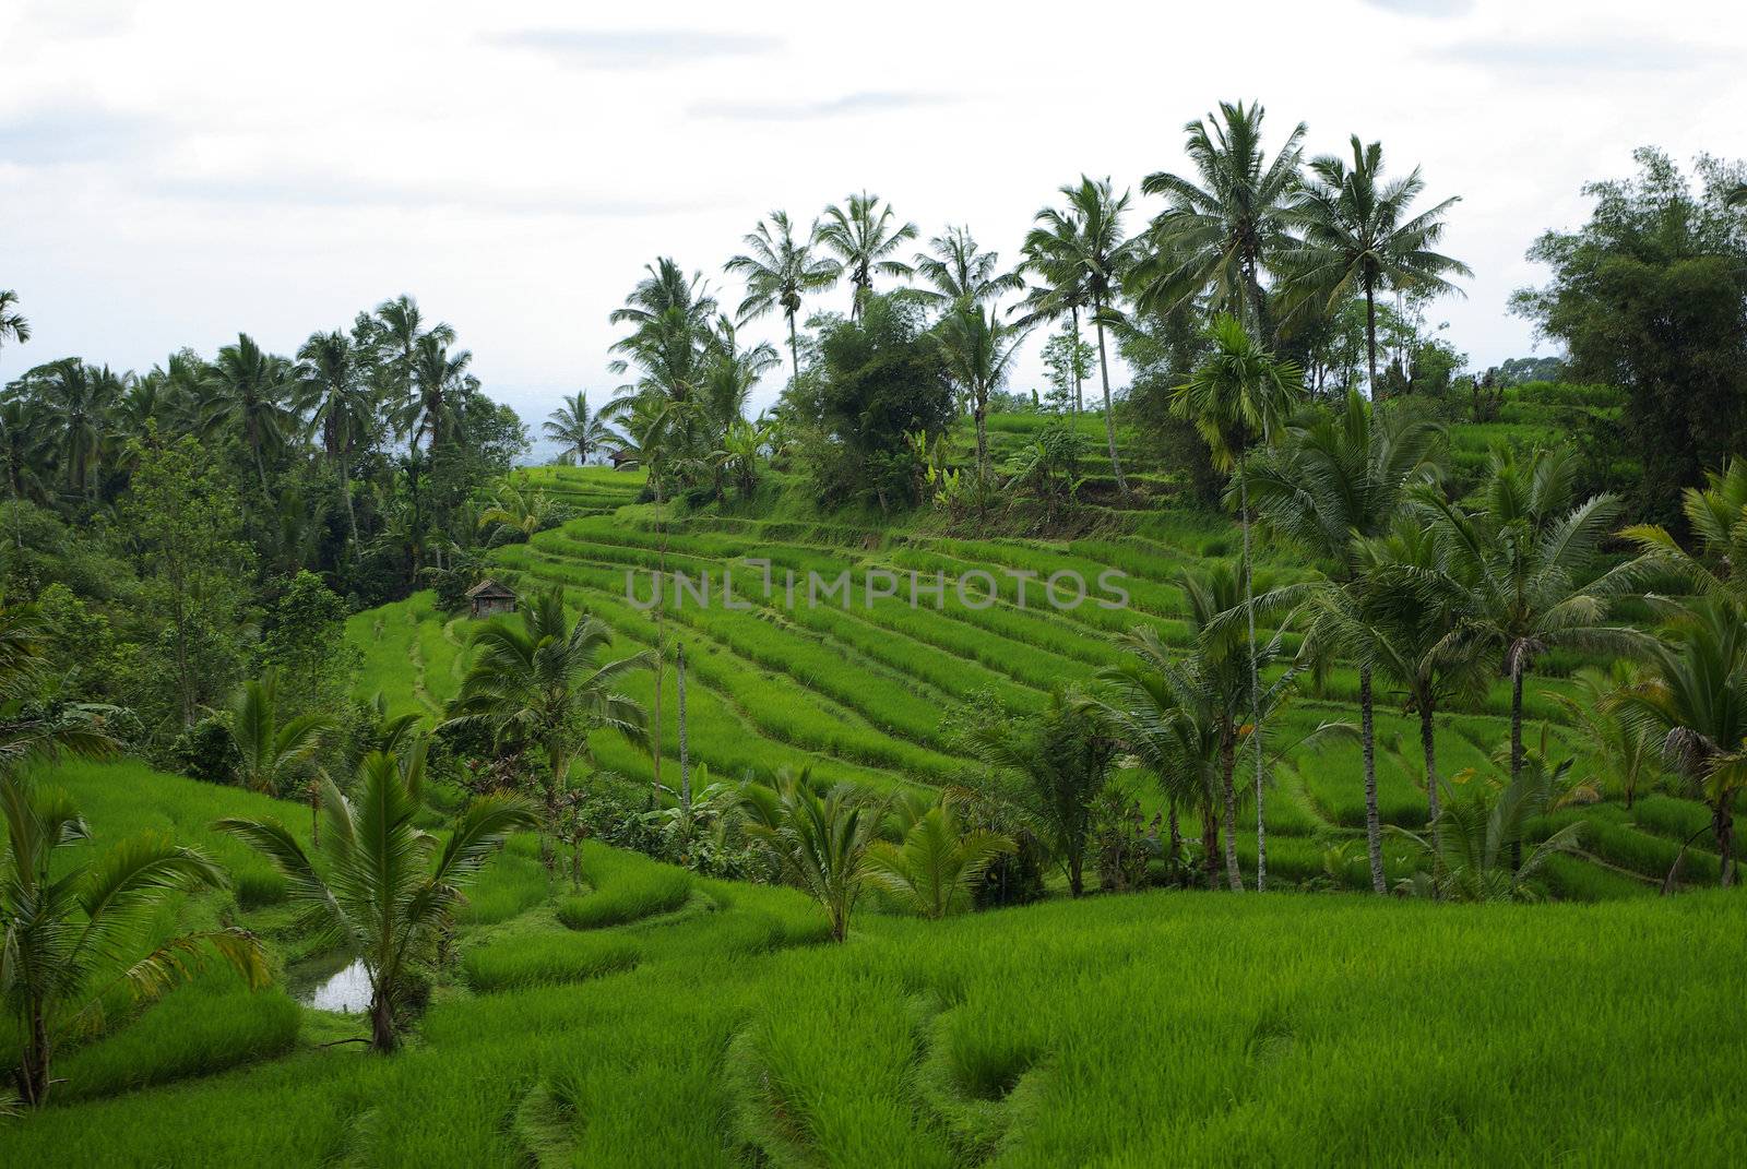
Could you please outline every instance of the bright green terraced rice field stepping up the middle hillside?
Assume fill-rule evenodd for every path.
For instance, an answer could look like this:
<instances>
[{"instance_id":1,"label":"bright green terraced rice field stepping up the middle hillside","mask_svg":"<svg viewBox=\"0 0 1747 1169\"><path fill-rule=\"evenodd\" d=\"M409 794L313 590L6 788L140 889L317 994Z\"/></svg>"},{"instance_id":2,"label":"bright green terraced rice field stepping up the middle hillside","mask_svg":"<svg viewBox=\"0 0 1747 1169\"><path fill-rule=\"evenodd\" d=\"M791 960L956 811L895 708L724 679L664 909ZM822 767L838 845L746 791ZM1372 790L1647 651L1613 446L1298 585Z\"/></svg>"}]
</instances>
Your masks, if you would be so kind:
<instances>
[{"instance_id":1,"label":"bright green terraced rice field stepping up the middle hillside","mask_svg":"<svg viewBox=\"0 0 1747 1169\"><path fill-rule=\"evenodd\" d=\"M1027 421L1020 418L1019 421ZM1001 423L996 449L1024 440L1024 426ZM570 505L573 519L538 533L526 545L496 550L500 575L521 591L559 587L577 608L587 608L615 633L613 654L632 654L664 641L683 645L688 662L688 746L715 778L769 778L779 769L811 767L828 781L870 788L940 785L964 776L966 762L952 750L942 716L956 704L992 694L1013 711L1045 704L1053 687L1088 683L1099 666L1120 659L1118 633L1148 624L1172 645L1190 640L1183 620L1179 575L1204 570L1235 549L1235 533L1198 514L1153 507L1109 524L1111 535L1067 542L973 540L915 529L748 519L694 514L664 521L636 503L641 477L606 468L538 468L529 472ZM1097 603L1101 573L1120 570L1125 608ZM807 603L809 573L835 582L849 573L854 596L816 596ZM1090 596L1074 608L1052 608L1043 582L1053 573L1078 573ZM667 573L659 608L652 608L652 573ZM673 587L685 573L692 591ZM987 573L978 577L977 573ZM1020 573L1025 605L1019 603ZM1302 578L1309 566L1263 549L1258 580ZM697 584L709 578L709 603ZM994 603L964 605L956 584L971 578L980 599L989 580ZM734 606L723 601L732 578ZM793 580L793 599L790 599ZM868 598L868 582L875 594ZM943 603L928 589L945 582ZM917 594L912 603L912 582ZM1064 585L1066 589L1066 585ZM1066 596L1067 592L1064 592ZM360 613L351 636L365 652L363 694L381 690L397 711L437 716L465 666L465 619L444 619L432 598ZM1581 659L1553 659L1569 671ZM653 702L653 676L638 674L627 690ZM671 674L664 753L678 750ZM1571 750L1571 732L1558 722L1550 695L1567 688L1557 676L1530 680L1527 715L1530 743L1544 741L1558 757ZM1282 744L1296 743L1324 722L1356 722L1357 678L1335 669L1319 692L1305 694L1277 720ZM1384 820L1405 828L1426 823L1426 792L1419 760L1417 718L1401 713L1399 695L1378 699L1378 800ZM1438 716L1440 767L1462 785L1490 769L1490 755L1508 736L1509 690L1501 678L1466 709ZM610 736L597 736L601 767L648 781L650 758ZM1157 795L1127 776L1136 795L1157 807ZM1679 800L1667 800L1681 806ZM1684 806L1682 806L1684 807ZM1593 814L1592 814L1593 813ZM1562 813L1572 816L1578 813ZM1578 898L1653 891L1672 861L1689 816L1647 816L1637 809L1586 809L1592 821L1586 856L1553 867L1557 891ZM1240 816L1253 825L1254 814ZM1363 832L1364 800L1359 748L1333 741L1317 750L1293 750L1274 769L1268 802L1270 870L1286 881L1342 877L1359 882L1363 854L1331 860L1331 849ZM1543 825L1551 830L1555 821ZM1188 832L1195 830L1186 823ZM1703 839L1700 839L1700 846ZM1253 828L1239 840L1254 854ZM1391 839L1385 860L1406 872L1406 844ZM1686 879L1716 872L1716 856L1688 860Z\"/></svg>"}]
</instances>

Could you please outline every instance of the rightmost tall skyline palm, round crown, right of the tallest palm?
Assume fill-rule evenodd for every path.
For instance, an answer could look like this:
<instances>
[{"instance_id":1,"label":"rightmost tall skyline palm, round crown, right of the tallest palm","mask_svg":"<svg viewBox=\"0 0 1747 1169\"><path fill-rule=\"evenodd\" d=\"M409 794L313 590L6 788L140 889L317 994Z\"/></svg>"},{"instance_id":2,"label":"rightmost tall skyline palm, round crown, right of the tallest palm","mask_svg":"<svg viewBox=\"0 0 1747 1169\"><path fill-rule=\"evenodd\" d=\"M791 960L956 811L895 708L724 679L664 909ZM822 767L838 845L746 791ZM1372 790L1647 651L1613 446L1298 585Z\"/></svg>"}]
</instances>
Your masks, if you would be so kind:
<instances>
[{"instance_id":1,"label":"rightmost tall skyline palm, round crown, right of the tallest palm","mask_svg":"<svg viewBox=\"0 0 1747 1169\"><path fill-rule=\"evenodd\" d=\"M1377 397L1377 294L1413 295L1459 292L1448 276L1473 276L1460 260L1433 248L1443 238L1443 215L1460 196L1412 215L1426 190L1415 168L1406 178L1385 182L1384 145L1361 145L1352 136L1352 168L1336 156L1310 163L1307 183L1293 215L1303 229L1302 246L1286 260L1291 281L1321 301L1326 313L1356 290L1364 295L1364 353L1370 393Z\"/></svg>"}]
</instances>

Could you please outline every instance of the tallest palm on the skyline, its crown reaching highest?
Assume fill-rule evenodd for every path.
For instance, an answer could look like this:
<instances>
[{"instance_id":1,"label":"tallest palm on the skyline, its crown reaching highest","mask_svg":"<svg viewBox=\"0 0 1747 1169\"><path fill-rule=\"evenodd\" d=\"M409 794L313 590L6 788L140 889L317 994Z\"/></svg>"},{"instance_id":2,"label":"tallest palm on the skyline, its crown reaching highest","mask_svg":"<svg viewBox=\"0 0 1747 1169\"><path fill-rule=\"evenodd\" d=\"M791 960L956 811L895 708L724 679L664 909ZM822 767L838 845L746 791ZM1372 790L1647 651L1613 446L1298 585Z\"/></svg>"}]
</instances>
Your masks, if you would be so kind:
<instances>
[{"instance_id":1,"label":"tallest palm on the skyline, its crown reaching highest","mask_svg":"<svg viewBox=\"0 0 1747 1169\"><path fill-rule=\"evenodd\" d=\"M1169 206L1153 218L1155 253L1136 273L1136 301L1160 313L1211 295L1214 308L1247 316L1261 344L1277 344L1261 274L1295 246L1291 199L1303 157L1303 122L1267 161L1260 103L1219 103L1219 112L1183 128L1195 178L1157 171L1141 190ZM1209 126L1211 122L1211 126Z\"/></svg>"}]
</instances>

